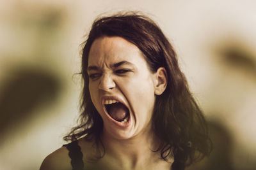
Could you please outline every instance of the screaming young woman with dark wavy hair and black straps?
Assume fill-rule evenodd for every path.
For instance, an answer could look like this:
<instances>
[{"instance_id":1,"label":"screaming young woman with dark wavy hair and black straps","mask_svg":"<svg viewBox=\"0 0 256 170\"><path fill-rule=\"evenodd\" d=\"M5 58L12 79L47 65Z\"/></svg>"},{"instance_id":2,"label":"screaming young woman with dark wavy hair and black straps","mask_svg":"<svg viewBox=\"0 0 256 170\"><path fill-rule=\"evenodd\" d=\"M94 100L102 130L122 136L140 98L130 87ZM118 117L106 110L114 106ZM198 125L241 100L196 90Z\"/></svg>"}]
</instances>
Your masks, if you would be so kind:
<instances>
[{"instance_id":1,"label":"screaming young woman with dark wavy hair and black straps","mask_svg":"<svg viewBox=\"0 0 256 170\"><path fill-rule=\"evenodd\" d=\"M209 154L202 111L150 18L95 20L82 54L80 124L40 170L184 169Z\"/></svg>"}]
</instances>

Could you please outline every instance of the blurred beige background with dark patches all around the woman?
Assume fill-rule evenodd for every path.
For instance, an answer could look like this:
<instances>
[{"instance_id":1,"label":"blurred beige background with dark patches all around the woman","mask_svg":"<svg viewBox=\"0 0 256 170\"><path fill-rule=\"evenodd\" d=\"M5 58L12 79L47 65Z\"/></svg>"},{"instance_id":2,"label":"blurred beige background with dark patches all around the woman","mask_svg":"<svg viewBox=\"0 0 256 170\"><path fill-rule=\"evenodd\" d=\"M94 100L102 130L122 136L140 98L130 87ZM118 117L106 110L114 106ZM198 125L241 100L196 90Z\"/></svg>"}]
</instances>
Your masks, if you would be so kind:
<instances>
[{"instance_id":1,"label":"blurred beige background with dark patches all around the woman","mask_svg":"<svg viewBox=\"0 0 256 170\"><path fill-rule=\"evenodd\" d=\"M76 125L79 46L98 15L160 25L209 122L214 150L189 169L256 169L256 1L0 1L0 169L39 169Z\"/></svg>"}]
</instances>

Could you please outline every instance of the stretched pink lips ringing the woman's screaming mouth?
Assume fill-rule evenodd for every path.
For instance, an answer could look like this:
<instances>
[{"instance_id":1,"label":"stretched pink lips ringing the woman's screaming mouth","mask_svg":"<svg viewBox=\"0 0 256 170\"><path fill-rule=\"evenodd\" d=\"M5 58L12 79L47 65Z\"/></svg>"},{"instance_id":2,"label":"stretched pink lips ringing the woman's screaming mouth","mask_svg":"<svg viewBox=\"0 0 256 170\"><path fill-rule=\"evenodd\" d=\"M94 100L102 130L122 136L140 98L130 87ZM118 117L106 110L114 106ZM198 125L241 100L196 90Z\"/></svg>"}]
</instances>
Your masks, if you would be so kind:
<instances>
[{"instance_id":1,"label":"stretched pink lips ringing the woman's screaming mouth","mask_svg":"<svg viewBox=\"0 0 256 170\"><path fill-rule=\"evenodd\" d=\"M104 113L106 115L106 117L109 118L109 120L111 122L113 122L113 124L115 125L118 125L119 127L128 127L130 124L131 124L131 110L129 109L129 107L127 106L127 104L125 104L125 102L120 98L120 97L117 97L117 96L102 96L101 97L101 104L102 104L102 108L104 110ZM122 104L124 104L125 107L127 107L127 109L129 110L129 120L127 122L124 122L124 123L121 123L121 122L118 122L116 121L115 119L113 119L109 114L108 114L108 111L106 110L106 107L105 107L105 104L104 104L104 101L105 100L116 100Z\"/></svg>"}]
</instances>

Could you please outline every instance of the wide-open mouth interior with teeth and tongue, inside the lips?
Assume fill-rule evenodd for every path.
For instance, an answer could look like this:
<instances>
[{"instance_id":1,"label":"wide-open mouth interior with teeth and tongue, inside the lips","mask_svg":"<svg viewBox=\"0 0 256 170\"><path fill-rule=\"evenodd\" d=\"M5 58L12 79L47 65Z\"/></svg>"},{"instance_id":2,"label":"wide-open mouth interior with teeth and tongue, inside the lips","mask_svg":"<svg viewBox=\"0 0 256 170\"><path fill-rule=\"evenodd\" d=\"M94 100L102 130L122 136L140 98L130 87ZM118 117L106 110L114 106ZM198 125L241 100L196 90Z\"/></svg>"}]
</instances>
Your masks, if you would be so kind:
<instances>
[{"instance_id":1,"label":"wide-open mouth interior with teeth and tongue, inside the lips","mask_svg":"<svg viewBox=\"0 0 256 170\"><path fill-rule=\"evenodd\" d=\"M125 123L129 121L130 113L128 108L118 102L118 101L110 101L108 104L104 104L106 107L106 111L108 112L108 115L116 120L117 122Z\"/></svg>"}]
</instances>

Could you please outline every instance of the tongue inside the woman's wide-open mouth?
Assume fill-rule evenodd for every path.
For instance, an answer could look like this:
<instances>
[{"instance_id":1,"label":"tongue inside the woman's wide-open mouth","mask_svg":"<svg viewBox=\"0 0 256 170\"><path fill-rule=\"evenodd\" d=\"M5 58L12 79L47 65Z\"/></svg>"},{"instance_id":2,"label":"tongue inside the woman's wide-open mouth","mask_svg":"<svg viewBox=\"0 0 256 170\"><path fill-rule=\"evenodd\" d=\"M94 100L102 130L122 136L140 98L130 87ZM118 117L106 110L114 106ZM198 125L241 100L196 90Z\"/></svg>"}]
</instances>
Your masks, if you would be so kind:
<instances>
[{"instance_id":1,"label":"tongue inside the woman's wide-open mouth","mask_svg":"<svg viewBox=\"0 0 256 170\"><path fill-rule=\"evenodd\" d=\"M109 115L116 121L122 121L128 113L127 108L122 103L110 104Z\"/></svg>"}]
</instances>

